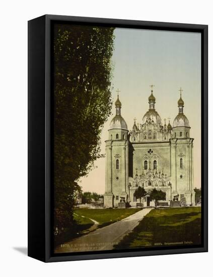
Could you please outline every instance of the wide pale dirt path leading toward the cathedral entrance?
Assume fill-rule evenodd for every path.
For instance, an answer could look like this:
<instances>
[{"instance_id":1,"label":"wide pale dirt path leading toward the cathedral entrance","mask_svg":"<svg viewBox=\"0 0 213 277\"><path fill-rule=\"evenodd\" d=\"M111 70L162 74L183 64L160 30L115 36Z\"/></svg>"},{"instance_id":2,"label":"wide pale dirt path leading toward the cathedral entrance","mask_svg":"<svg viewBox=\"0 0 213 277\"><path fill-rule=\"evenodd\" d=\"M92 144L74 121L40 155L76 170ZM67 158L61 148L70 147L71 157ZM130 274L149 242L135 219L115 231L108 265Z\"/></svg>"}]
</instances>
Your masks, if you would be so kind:
<instances>
[{"instance_id":1,"label":"wide pale dirt path leading toward the cathedral entrance","mask_svg":"<svg viewBox=\"0 0 213 277\"><path fill-rule=\"evenodd\" d=\"M55 249L55 253L112 250L113 245L119 243L125 235L130 233L152 209L148 207L121 221L61 244Z\"/></svg>"}]
</instances>

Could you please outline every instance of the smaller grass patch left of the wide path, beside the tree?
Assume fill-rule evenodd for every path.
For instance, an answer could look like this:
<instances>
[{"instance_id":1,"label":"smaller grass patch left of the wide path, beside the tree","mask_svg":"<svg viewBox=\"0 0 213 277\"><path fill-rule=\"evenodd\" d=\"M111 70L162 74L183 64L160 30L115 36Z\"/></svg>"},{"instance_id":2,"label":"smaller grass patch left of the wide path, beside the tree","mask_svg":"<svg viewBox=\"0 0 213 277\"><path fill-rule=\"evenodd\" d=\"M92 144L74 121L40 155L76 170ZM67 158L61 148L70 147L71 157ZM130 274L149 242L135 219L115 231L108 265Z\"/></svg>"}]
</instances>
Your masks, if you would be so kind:
<instances>
[{"instance_id":1,"label":"smaller grass patch left of the wide path, beside the tree","mask_svg":"<svg viewBox=\"0 0 213 277\"><path fill-rule=\"evenodd\" d=\"M99 223L99 228L133 215L140 209L75 209L74 213L91 218ZM78 218L78 217L77 217Z\"/></svg>"}]
</instances>

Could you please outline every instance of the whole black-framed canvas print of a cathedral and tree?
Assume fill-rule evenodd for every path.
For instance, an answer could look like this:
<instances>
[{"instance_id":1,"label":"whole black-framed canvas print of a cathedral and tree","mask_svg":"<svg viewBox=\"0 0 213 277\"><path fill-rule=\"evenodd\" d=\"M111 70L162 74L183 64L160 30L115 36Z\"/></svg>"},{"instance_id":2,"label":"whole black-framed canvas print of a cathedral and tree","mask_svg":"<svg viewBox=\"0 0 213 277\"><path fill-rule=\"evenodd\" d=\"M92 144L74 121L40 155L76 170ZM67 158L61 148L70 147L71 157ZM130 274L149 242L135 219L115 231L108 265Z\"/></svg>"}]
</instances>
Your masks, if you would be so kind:
<instances>
[{"instance_id":1,"label":"whole black-framed canvas print of a cathedral and tree","mask_svg":"<svg viewBox=\"0 0 213 277\"><path fill-rule=\"evenodd\" d=\"M207 26L28 22L28 255L207 251Z\"/></svg>"}]
</instances>

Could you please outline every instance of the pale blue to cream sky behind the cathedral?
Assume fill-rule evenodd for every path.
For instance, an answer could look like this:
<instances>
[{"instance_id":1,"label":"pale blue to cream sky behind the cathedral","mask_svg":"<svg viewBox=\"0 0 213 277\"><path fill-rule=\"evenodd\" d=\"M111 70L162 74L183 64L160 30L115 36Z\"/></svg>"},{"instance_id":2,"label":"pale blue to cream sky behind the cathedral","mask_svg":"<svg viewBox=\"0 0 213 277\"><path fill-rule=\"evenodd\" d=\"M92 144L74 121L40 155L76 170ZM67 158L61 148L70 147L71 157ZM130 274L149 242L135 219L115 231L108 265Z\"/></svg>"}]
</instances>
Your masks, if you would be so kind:
<instances>
[{"instance_id":1,"label":"pale blue to cream sky behind the cathedral","mask_svg":"<svg viewBox=\"0 0 213 277\"><path fill-rule=\"evenodd\" d=\"M200 187L201 176L201 35L200 33L116 28L112 56L112 115L102 131L101 151L105 154L109 123L115 115L114 102L119 89L121 115L128 129L141 123L149 109L150 85L155 85L155 108L171 125L178 114L180 87L184 114L194 138L194 187ZM96 168L80 179L84 191L105 191L105 158L95 163Z\"/></svg>"}]
</instances>

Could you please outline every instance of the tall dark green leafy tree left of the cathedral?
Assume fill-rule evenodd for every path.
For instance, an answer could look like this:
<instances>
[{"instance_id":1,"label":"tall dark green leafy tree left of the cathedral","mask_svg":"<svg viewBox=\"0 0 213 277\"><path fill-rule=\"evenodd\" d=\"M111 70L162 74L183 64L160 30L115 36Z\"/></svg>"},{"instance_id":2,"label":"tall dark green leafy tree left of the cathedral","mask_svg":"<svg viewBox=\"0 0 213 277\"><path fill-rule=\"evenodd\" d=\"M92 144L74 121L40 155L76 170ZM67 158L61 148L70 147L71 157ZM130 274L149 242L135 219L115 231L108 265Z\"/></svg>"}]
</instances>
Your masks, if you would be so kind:
<instances>
[{"instance_id":1,"label":"tall dark green leafy tree left of the cathedral","mask_svg":"<svg viewBox=\"0 0 213 277\"><path fill-rule=\"evenodd\" d=\"M54 227L73 226L78 180L94 167L112 107L114 28L54 25Z\"/></svg>"}]
</instances>

